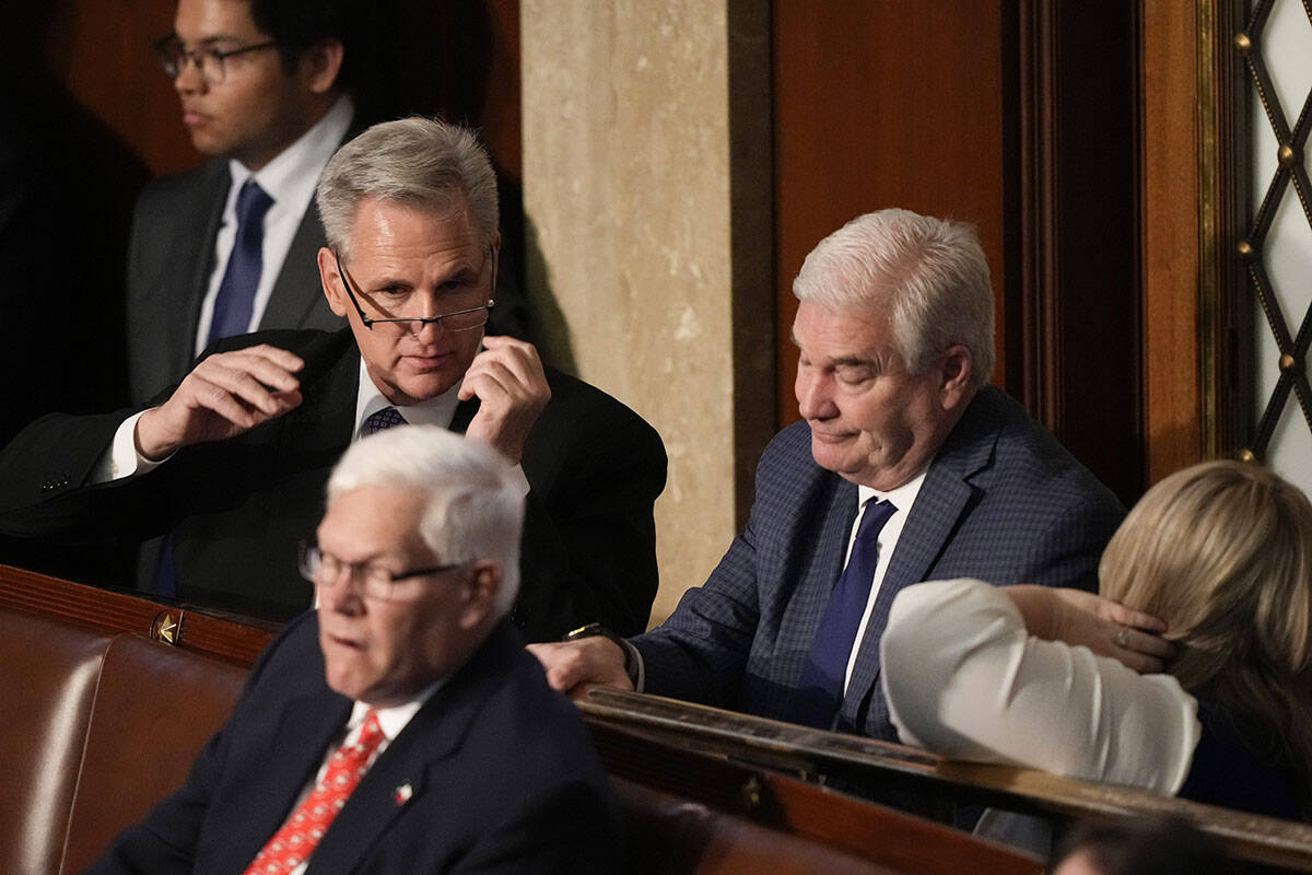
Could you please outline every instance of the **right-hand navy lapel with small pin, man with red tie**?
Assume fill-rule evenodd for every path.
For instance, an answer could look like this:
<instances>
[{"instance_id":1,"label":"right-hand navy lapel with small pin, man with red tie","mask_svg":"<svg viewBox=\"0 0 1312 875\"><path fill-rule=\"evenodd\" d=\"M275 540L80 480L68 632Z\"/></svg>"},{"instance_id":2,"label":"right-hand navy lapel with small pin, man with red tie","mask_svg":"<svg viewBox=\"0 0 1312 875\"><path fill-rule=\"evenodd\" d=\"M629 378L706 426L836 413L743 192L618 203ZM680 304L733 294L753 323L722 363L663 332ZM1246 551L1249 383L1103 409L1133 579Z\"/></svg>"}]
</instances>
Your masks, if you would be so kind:
<instances>
[{"instance_id":1,"label":"right-hand navy lapel with small pin, man with red tie","mask_svg":"<svg viewBox=\"0 0 1312 875\"><path fill-rule=\"evenodd\" d=\"M356 871L378 838L425 792L440 792L433 774L443 760L457 756L483 702L506 670L518 648L502 622L387 746L365 773L346 807L324 834L307 875L345 875Z\"/></svg>"}]
</instances>

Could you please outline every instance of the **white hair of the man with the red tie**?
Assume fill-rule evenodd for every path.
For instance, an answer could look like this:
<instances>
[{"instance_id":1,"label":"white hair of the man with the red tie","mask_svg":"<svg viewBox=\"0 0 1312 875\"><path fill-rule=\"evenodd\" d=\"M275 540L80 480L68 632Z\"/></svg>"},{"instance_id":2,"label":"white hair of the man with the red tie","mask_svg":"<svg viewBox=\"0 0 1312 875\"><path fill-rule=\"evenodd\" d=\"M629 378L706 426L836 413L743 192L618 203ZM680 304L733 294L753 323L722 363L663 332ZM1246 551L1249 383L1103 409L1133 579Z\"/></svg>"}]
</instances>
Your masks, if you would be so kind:
<instances>
[{"instance_id":1,"label":"white hair of the man with the red tie","mask_svg":"<svg viewBox=\"0 0 1312 875\"><path fill-rule=\"evenodd\" d=\"M328 478L328 504L361 487L428 496L419 534L440 561L492 559L501 565L497 617L520 590L523 492L508 459L485 443L437 425L378 432L346 450Z\"/></svg>"}]
</instances>

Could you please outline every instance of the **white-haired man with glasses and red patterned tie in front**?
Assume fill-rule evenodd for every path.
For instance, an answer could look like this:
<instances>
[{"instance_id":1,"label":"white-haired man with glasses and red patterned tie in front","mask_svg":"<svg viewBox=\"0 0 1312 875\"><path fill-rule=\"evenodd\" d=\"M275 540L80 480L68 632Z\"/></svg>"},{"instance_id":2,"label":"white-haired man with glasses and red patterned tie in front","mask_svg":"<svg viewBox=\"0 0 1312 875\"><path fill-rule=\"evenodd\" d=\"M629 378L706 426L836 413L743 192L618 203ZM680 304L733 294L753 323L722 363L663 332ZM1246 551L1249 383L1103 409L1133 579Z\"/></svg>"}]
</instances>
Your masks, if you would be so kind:
<instances>
[{"instance_id":1,"label":"white-haired man with glasses and red patterned tie in front","mask_svg":"<svg viewBox=\"0 0 1312 875\"><path fill-rule=\"evenodd\" d=\"M89 871L618 871L586 731L506 621L522 518L513 467L475 441L352 446L300 550L318 610Z\"/></svg>"}]
</instances>

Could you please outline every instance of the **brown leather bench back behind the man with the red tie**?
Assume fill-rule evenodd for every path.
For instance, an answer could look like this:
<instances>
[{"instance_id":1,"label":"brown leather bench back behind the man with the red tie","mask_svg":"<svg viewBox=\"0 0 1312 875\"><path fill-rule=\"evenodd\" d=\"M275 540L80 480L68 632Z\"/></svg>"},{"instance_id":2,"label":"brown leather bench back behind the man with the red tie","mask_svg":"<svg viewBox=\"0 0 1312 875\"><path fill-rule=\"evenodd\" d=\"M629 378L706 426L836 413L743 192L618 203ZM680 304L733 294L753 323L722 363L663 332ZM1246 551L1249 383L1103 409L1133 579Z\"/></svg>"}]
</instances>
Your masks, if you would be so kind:
<instances>
[{"instance_id":1,"label":"brown leather bench back behind the man with the red tie","mask_svg":"<svg viewBox=\"0 0 1312 875\"><path fill-rule=\"evenodd\" d=\"M193 651L0 607L0 874L85 868L182 783L244 677L244 669ZM632 872L895 871L623 778L613 782L628 823Z\"/></svg>"}]
</instances>

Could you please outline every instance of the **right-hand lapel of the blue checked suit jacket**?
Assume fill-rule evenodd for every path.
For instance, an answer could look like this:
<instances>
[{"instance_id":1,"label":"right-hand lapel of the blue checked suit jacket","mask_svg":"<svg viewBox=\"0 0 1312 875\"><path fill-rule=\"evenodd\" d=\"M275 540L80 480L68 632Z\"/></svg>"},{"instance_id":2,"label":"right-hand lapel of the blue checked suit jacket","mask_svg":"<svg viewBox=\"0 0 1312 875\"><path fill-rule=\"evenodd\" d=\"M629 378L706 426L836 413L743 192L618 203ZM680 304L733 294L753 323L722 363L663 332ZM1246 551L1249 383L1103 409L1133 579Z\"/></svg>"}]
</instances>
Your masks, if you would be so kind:
<instances>
[{"instance_id":1,"label":"right-hand lapel of the blue checked suit jacket","mask_svg":"<svg viewBox=\"0 0 1312 875\"><path fill-rule=\"evenodd\" d=\"M951 539L953 530L974 501L975 487L970 484L970 478L992 463L997 434L987 408L981 394L953 429L943 449L930 463L916 504L897 538L844 697L842 719L850 727L862 724L862 712L879 680L879 640L888 624L893 597L905 586L928 579ZM991 429L991 436L981 433Z\"/></svg>"}]
</instances>

